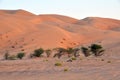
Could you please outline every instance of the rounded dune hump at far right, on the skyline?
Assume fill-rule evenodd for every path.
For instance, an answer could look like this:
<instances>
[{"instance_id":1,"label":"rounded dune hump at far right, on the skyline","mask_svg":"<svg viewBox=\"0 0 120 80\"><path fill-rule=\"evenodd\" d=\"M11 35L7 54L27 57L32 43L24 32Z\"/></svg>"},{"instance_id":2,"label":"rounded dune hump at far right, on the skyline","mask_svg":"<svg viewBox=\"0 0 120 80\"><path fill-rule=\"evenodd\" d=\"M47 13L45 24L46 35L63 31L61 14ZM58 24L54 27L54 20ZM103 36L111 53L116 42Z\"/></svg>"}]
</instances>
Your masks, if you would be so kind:
<instances>
[{"instance_id":1,"label":"rounded dune hump at far right, on the skyline","mask_svg":"<svg viewBox=\"0 0 120 80\"><path fill-rule=\"evenodd\" d=\"M100 17L87 17L79 20L76 24L92 26L102 30L117 30L120 28L120 20Z\"/></svg>"}]
</instances>

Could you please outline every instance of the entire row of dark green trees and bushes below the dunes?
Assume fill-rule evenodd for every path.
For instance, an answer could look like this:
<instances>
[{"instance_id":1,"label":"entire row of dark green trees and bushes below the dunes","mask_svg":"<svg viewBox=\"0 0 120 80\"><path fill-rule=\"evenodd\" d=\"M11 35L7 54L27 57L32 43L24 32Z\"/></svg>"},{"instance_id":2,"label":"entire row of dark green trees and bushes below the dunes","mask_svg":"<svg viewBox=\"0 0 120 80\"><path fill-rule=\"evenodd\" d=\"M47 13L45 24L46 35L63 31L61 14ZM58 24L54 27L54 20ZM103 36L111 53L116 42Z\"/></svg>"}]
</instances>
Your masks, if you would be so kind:
<instances>
[{"instance_id":1,"label":"entire row of dark green trees and bushes below the dunes","mask_svg":"<svg viewBox=\"0 0 120 80\"><path fill-rule=\"evenodd\" d=\"M76 60L76 57L79 57L79 51L80 48L55 48L53 50L56 50L57 53L54 54L53 57L58 57L61 58L63 55L68 55L68 57L71 58L71 60ZM81 51L83 52L83 54L88 57L90 55L94 55L94 56L101 56L103 55L104 49L101 45L98 44L92 44L89 47L81 47ZM46 53L47 57L51 56L52 50L47 49L44 50L43 48L39 48L34 50L33 54L30 54L30 58L33 57L42 57L42 54ZM4 58L6 60L14 60L14 59L22 59L25 56L25 53L18 53L17 55L9 55L8 53L6 53L4 55Z\"/></svg>"}]
</instances>

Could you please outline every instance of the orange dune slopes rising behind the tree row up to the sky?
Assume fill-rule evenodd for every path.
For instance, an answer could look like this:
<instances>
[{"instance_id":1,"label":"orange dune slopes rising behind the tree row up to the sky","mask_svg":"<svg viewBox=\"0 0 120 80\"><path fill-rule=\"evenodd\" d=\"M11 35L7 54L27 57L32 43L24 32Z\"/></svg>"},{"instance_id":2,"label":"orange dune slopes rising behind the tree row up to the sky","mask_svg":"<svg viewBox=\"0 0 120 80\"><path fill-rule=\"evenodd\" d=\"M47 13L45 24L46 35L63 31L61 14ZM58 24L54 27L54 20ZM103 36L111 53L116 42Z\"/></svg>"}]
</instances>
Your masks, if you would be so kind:
<instances>
[{"instance_id":1,"label":"orange dune slopes rising behind the tree row up to the sky","mask_svg":"<svg viewBox=\"0 0 120 80\"><path fill-rule=\"evenodd\" d=\"M77 20L61 15L34 15L24 10L0 10L0 19L0 54L102 41L108 49L114 43L119 48L120 20L98 17Z\"/></svg>"}]
</instances>

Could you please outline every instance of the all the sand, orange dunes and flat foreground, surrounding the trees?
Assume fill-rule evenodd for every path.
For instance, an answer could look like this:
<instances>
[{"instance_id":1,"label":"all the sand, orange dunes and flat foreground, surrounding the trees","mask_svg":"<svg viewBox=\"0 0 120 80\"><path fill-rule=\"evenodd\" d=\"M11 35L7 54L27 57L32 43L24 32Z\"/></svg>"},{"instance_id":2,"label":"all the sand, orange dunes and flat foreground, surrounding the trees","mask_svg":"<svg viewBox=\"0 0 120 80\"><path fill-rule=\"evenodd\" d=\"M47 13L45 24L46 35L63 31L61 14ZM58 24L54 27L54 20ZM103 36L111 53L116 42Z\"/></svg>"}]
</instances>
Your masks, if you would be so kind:
<instances>
[{"instance_id":1,"label":"all the sand, orange dunes and flat foreground, surrounding the trees","mask_svg":"<svg viewBox=\"0 0 120 80\"><path fill-rule=\"evenodd\" d=\"M120 80L120 20L56 14L35 15L24 10L0 10L0 80ZM101 57L3 60L6 52L26 55L37 48L101 44ZM80 53L81 54L81 53ZM104 61L102 61L104 59ZM46 61L48 60L48 61ZM56 62L62 66L56 67ZM68 71L64 72L64 69Z\"/></svg>"}]
</instances>

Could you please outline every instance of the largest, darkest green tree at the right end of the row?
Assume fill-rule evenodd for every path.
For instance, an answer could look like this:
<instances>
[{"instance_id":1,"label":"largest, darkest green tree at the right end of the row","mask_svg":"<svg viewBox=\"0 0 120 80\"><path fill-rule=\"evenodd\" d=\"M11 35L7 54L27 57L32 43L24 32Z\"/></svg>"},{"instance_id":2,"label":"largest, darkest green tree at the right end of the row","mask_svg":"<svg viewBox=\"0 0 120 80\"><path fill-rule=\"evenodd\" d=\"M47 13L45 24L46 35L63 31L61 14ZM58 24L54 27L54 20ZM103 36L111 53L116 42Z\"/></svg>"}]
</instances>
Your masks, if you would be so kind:
<instances>
[{"instance_id":1,"label":"largest, darkest green tree at the right end of the row","mask_svg":"<svg viewBox=\"0 0 120 80\"><path fill-rule=\"evenodd\" d=\"M92 45L90 46L90 48L91 48L92 53L93 53L95 56L101 56L101 55L103 55L104 50L103 50L103 47L102 47L101 45L92 44Z\"/></svg>"}]
</instances>

